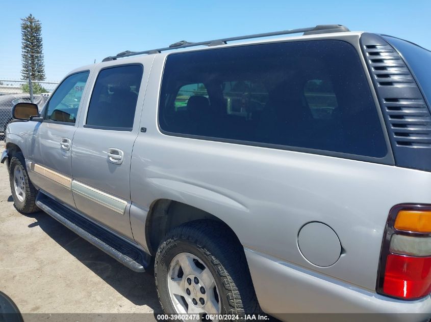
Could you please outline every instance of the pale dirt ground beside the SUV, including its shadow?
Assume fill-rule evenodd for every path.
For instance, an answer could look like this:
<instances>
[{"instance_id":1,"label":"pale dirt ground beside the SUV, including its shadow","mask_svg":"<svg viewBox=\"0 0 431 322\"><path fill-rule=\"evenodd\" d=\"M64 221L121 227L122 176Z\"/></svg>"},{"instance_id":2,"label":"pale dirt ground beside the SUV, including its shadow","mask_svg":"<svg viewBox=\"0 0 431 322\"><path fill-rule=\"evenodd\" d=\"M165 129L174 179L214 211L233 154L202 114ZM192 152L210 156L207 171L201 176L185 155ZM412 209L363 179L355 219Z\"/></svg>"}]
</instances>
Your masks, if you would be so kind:
<instances>
[{"instance_id":1,"label":"pale dirt ground beside the SUV, including its shadow","mask_svg":"<svg viewBox=\"0 0 431 322\"><path fill-rule=\"evenodd\" d=\"M140 314L140 320L155 320L154 312L161 311L153 275L125 268L44 213L19 214L13 207L3 164L0 290L22 313L45 313L34 314L39 317L47 313L133 312L147 313ZM86 319L95 320L95 316L103 314ZM77 320L74 316L67 319ZM24 320L30 319L24 315Z\"/></svg>"}]
</instances>

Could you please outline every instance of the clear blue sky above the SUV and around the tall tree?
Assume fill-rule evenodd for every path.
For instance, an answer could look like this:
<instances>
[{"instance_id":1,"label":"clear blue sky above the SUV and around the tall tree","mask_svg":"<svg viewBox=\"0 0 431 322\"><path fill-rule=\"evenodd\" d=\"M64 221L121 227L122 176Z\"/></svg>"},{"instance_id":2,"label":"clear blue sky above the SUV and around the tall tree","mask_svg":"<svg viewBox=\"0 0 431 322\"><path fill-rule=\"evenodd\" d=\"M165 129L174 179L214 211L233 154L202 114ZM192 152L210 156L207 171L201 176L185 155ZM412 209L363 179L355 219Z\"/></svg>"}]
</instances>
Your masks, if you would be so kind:
<instances>
[{"instance_id":1,"label":"clear blue sky above the SUV and around the tall tree","mask_svg":"<svg viewBox=\"0 0 431 322\"><path fill-rule=\"evenodd\" d=\"M0 0L0 79L20 79L20 18L42 23L46 80L123 50L340 23L431 49L431 1Z\"/></svg>"}]
</instances>

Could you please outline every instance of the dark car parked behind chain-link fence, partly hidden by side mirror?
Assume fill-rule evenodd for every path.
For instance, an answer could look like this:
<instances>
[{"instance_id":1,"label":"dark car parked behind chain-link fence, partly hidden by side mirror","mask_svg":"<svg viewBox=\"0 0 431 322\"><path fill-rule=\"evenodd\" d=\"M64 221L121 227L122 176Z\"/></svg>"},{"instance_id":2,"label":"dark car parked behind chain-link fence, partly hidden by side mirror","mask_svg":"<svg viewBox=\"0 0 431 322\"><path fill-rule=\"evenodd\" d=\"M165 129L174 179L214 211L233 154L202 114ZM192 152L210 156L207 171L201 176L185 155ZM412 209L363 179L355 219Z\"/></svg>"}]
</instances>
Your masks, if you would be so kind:
<instances>
[{"instance_id":1,"label":"dark car parked behind chain-link fence, partly hidden by side mirror","mask_svg":"<svg viewBox=\"0 0 431 322\"><path fill-rule=\"evenodd\" d=\"M34 95L33 102L37 104L39 111L48 100L49 96ZM20 102L30 102L30 94L8 94L0 96L0 139L3 139L6 127L12 121L12 107Z\"/></svg>"}]
</instances>

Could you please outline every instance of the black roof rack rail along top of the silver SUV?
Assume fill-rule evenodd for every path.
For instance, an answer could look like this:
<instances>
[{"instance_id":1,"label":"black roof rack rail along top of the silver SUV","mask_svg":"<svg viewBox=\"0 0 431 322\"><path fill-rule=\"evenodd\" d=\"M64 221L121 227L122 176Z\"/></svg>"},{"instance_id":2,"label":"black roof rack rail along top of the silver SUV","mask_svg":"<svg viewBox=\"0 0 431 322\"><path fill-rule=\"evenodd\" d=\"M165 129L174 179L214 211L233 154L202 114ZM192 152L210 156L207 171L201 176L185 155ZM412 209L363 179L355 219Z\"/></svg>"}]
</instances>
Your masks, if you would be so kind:
<instances>
[{"instance_id":1,"label":"black roof rack rail along top of the silver SUV","mask_svg":"<svg viewBox=\"0 0 431 322\"><path fill-rule=\"evenodd\" d=\"M117 58L122 57L129 57L129 56L135 56L135 55L142 55L142 54L153 54L153 53L160 53L165 50L172 50L172 49L179 49L179 48L188 48L188 47L195 47L195 46L218 46L218 45L225 45L227 42L230 41L237 41L237 40L244 40L244 39L253 39L253 38L262 38L262 37L271 37L271 36L279 36L279 35L289 35L289 34L299 34L303 33L303 35L314 35L314 34L326 34L326 33L340 33L340 32L348 32L349 29L346 26L343 26L341 24L320 24L315 27L309 27L309 28L299 28L299 29L292 29L292 30L284 30L280 32L272 32L272 33L264 33L264 34L254 34L254 35L246 35L246 36L238 36L238 37L231 37L231 38L224 38L224 39L216 39L216 40L208 40L208 41L201 41L197 43L190 43L185 40L176 42L174 44L169 45L169 47L159 48L159 49L151 49L151 50L145 50L145 51L130 51L126 50L123 52L118 53L115 56L109 56L106 57L102 62L109 62L116 60Z\"/></svg>"}]
</instances>

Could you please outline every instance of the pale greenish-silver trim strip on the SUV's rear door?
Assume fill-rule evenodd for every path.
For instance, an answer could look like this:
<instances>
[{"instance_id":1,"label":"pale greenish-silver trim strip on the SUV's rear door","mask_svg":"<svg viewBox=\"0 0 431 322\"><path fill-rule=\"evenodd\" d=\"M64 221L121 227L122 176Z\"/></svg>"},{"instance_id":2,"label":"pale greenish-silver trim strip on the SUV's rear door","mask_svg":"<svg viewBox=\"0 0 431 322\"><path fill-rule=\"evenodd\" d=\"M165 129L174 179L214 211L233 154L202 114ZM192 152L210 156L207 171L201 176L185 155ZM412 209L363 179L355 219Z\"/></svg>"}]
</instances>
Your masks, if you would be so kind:
<instances>
[{"instance_id":1,"label":"pale greenish-silver trim strip on the SUV's rear door","mask_svg":"<svg viewBox=\"0 0 431 322\"><path fill-rule=\"evenodd\" d=\"M127 206L127 201L114 197L75 180L72 181L72 192L88 198L91 201L94 201L101 206L109 208L121 215L124 214L125 208Z\"/></svg>"}]
</instances>

